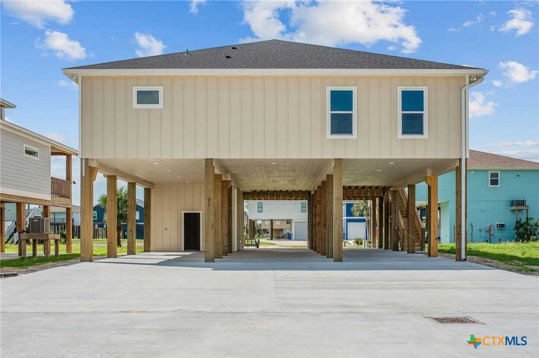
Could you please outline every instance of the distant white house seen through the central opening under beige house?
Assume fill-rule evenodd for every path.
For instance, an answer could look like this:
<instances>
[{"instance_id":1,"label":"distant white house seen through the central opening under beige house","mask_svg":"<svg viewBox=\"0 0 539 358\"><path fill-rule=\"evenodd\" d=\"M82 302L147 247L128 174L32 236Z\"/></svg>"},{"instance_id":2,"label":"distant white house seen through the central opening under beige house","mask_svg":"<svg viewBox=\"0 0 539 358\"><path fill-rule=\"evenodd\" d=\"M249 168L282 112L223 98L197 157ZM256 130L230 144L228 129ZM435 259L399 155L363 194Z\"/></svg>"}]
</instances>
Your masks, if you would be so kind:
<instances>
[{"instance_id":1,"label":"distant white house seen through the central opening under beige house","mask_svg":"<svg viewBox=\"0 0 539 358\"><path fill-rule=\"evenodd\" d=\"M249 220L261 224L272 238L292 235L292 240L307 240L307 200L247 200Z\"/></svg>"}]
</instances>

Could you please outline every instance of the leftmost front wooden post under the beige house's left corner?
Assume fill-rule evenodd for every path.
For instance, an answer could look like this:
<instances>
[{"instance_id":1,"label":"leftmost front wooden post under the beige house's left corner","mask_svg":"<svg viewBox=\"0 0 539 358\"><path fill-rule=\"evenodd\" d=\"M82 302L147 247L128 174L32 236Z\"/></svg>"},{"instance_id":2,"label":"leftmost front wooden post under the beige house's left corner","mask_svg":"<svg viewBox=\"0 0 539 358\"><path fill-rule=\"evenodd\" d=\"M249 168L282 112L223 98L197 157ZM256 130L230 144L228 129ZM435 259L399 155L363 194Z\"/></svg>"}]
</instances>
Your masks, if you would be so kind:
<instances>
[{"instance_id":1,"label":"leftmost front wooden post under the beige house's left corner","mask_svg":"<svg viewBox=\"0 0 539 358\"><path fill-rule=\"evenodd\" d=\"M94 171L89 160L80 159L80 261L93 261Z\"/></svg>"}]
</instances>

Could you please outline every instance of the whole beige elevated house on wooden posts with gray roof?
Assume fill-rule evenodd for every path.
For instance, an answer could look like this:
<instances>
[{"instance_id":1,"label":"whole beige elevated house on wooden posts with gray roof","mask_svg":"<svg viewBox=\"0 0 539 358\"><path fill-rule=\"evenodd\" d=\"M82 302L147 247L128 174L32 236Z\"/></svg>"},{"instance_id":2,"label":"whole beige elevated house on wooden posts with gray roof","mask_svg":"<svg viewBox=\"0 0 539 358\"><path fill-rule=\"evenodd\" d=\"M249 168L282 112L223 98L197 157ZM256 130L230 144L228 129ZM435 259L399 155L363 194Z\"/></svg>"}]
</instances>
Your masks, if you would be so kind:
<instances>
[{"instance_id":1,"label":"whole beige elevated house on wooden posts with gray roof","mask_svg":"<svg viewBox=\"0 0 539 358\"><path fill-rule=\"evenodd\" d=\"M109 193L129 182L128 252L139 185L144 249L195 247L211 262L243 247L244 200L307 200L308 247L334 261L350 200L373 200L375 247L423 249L423 232L438 232L438 176L455 170L466 258L468 92L486 69L268 40L63 71L79 84L82 261L97 172ZM423 181L426 228L415 210Z\"/></svg>"}]
</instances>

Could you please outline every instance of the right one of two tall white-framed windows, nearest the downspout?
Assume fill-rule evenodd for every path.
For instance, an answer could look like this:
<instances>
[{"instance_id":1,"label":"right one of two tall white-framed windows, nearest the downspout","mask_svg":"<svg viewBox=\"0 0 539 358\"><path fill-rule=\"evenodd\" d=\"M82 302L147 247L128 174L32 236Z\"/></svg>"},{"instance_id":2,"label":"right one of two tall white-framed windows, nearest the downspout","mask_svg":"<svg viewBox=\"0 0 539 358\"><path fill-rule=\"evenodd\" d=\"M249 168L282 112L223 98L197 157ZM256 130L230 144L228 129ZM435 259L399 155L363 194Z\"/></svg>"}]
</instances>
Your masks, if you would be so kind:
<instances>
[{"instance_id":1,"label":"right one of two tall white-framed windows, nearest the downspout","mask_svg":"<svg viewBox=\"0 0 539 358\"><path fill-rule=\"evenodd\" d=\"M397 87L397 138L429 138L426 86Z\"/></svg>"}]
</instances>

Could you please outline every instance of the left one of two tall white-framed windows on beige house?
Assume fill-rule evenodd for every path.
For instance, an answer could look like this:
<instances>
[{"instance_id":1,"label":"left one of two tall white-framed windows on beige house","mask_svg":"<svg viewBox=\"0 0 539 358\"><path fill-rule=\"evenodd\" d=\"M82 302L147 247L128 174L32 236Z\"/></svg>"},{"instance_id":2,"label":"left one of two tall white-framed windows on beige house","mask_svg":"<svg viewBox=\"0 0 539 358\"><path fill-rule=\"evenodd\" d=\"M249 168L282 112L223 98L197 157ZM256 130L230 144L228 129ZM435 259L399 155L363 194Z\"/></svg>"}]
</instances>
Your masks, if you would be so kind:
<instances>
[{"instance_id":1,"label":"left one of two tall white-framed windows on beige house","mask_svg":"<svg viewBox=\"0 0 539 358\"><path fill-rule=\"evenodd\" d=\"M356 86L326 87L326 138L357 138Z\"/></svg>"}]
</instances>

